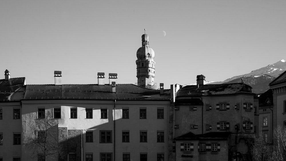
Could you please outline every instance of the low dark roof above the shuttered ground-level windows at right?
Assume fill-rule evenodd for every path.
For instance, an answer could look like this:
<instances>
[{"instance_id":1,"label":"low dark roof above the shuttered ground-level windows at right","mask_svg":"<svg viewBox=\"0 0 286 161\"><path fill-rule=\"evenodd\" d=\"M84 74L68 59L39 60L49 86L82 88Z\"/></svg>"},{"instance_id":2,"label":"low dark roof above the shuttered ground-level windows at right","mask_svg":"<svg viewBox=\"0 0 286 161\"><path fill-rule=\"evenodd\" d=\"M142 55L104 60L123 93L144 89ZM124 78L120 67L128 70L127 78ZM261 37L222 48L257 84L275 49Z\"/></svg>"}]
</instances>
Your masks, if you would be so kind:
<instances>
[{"instance_id":1,"label":"low dark roof above the shuttered ground-level windows at right","mask_svg":"<svg viewBox=\"0 0 286 161\"><path fill-rule=\"evenodd\" d=\"M230 134L231 132L208 132L195 135L192 132L188 132L174 138L174 140L228 140Z\"/></svg>"}]
</instances>

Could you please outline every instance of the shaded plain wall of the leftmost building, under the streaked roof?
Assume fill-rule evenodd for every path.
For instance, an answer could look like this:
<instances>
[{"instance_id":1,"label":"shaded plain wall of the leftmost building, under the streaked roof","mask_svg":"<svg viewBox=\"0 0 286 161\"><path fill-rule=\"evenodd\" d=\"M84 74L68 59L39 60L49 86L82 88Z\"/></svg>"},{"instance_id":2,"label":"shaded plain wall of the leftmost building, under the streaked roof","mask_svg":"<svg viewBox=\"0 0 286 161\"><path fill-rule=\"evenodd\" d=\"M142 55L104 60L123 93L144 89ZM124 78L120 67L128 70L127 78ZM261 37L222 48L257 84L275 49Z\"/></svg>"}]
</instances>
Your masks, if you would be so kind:
<instances>
[{"instance_id":1,"label":"shaded plain wall of the leftmost building, under the streaked roof","mask_svg":"<svg viewBox=\"0 0 286 161\"><path fill-rule=\"evenodd\" d=\"M3 134L3 145L0 145L0 158L13 160L13 157L21 157L21 145L13 145L13 134L21 134L21 104L20 102L0 103L3 119L0 120L0 133ZM14 119L13 109L20 109L20 119Z\"/></svg>"}]
</instances>

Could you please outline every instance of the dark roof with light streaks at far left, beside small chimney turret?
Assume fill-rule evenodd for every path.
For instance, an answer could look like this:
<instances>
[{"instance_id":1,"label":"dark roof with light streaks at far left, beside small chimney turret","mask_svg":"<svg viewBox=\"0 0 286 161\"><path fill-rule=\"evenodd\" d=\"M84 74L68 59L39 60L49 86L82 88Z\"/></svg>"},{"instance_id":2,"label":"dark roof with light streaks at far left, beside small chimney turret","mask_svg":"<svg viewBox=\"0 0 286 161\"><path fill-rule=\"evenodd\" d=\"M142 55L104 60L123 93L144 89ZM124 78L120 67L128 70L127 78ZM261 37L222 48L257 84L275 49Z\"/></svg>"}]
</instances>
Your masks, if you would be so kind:
<instances>
[{"instance_id":1,"label":"dark roof with light streaks at far left, beside small chimney turret","mask_svg":"<svg viewBox=\"0 0 286 161\"><path fill-rule=\"evenodd\" d=\"M0 102L19 101L24 98L25 77L0 79Z\"/></svg>"}]
</instances>

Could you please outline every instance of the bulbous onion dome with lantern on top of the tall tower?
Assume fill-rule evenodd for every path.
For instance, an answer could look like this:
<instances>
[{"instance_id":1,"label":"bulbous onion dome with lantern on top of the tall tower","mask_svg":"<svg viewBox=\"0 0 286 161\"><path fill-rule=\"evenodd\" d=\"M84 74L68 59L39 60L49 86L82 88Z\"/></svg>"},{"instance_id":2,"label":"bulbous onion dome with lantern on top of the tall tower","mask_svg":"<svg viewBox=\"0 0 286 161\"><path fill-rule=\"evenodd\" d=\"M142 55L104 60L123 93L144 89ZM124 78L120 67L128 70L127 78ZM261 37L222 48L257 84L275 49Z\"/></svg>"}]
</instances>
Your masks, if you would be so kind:
<instances>
[{"instance_id":1,"label":"bulbous onion dome with lantern on top of the tall tower","mask_svg":"<svg viewBox=\"0 0 286 161\"><path fill-rule=\"evenodd\" d=\"M137 59L154 59L155 52L149 47L149 36L147 34L142 35L142 47L137 50Z\"/></svg>"}]
</instances>

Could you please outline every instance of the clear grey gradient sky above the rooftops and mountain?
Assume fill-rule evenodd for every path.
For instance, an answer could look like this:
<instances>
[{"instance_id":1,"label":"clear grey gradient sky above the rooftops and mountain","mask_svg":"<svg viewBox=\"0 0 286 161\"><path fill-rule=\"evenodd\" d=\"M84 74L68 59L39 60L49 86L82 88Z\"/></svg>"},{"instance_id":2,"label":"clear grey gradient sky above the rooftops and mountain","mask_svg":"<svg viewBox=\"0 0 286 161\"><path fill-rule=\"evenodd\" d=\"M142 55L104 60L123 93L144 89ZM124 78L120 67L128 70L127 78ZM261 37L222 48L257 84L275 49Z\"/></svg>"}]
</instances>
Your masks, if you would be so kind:
<instances>
[{"instance_id":1,"label":"clear grey gradient sky above the rooftops and mountain","mask_svg":"<svg viewBox=\"0 0 286 161\"><path fill-rule=\"evenodd\" d=\"M1 0L0 73L26 84L97 84L97 72L135 84L149 35L155 81L223 81L286 60L285 0ZM164 36L164 32L166 36Z\"/></svg>"}]
</instances>

